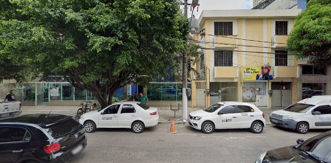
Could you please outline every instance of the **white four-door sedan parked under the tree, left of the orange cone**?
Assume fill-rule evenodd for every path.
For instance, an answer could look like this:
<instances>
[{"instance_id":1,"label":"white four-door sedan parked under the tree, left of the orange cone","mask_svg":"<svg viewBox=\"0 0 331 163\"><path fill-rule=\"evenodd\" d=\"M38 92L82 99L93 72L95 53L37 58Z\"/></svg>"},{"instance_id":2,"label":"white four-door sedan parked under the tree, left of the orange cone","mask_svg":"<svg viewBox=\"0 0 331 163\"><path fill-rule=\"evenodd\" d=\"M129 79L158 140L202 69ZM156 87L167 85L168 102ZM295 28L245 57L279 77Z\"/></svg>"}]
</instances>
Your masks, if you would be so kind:
<instances>
[{"instance_id":1,"label":"white four-door sedan parked under the tree, left of the orange cone","mask_svg":"<svg viewBox=\"0 0 331 163\"><path fill-rule=\"evenodd\" d=\"M157 108L141 102L116 102L99 111L92 111L80 116L79 123L85 126L86 132L97 128L131 128L141 133L145 127L158 123Z\"/></svg>"}]
</instances>

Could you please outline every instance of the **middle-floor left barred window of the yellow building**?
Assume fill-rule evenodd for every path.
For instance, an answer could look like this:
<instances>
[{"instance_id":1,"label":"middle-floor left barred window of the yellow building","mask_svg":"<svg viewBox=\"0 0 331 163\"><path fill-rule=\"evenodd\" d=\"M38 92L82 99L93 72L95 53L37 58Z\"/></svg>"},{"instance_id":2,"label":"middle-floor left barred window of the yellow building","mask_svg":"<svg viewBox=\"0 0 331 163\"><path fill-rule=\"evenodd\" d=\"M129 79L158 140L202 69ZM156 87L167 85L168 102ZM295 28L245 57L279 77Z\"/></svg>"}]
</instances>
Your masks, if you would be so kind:
<instances>
[{"instance_id":1,"label":"middle-floor left barred window of the yellow building","mask_svg":"<svg viewBox=\"0 0 331 163\"><path fill-rule=\"evenodd\" d=\"M214 66L232 66L232 51L215 50Z\"/></svg>"}]
</instances>

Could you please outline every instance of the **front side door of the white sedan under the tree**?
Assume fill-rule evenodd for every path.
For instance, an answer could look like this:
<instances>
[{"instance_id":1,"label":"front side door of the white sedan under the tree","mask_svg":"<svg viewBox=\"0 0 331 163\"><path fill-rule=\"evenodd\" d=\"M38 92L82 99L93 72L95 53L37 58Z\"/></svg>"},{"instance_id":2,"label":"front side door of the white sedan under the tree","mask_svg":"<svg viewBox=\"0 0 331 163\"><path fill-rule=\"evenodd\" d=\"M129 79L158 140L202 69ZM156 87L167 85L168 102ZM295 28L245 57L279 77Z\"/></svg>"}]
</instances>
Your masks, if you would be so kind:
<instances>
[{"instance_id":1,"label":"front side door of the white sedan under the tree","mask_svg":"<svg viewBox=\"0 0 331 163\"><path fill-rule=\"evenodd\" d=\"M99 126L102 127L115 127L117 126L118 111L121 104L114 104L106 108L99 115Z\"/></svg>"}]
</instances>

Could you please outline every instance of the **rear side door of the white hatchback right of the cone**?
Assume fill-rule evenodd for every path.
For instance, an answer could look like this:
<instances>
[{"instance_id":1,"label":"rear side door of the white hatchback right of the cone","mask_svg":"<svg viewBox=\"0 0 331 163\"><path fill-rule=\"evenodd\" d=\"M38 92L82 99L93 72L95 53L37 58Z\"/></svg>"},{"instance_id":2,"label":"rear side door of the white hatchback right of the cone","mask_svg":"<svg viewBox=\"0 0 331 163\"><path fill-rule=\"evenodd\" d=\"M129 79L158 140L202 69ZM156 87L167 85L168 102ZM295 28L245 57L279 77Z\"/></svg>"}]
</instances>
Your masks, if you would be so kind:
<instances>
[{"instance_id":1,"label":"rear side door of the white hatchback right of the cone","mask_svg":"<svg viewBox=\"0 0 331 163\"><path fill-rule=\"evenodd\" d=\"M247 105L236 105L235 107L235 117L237 117L238 128L250 127L254 120L254 109Z\"/></svg>"}]
</instances>

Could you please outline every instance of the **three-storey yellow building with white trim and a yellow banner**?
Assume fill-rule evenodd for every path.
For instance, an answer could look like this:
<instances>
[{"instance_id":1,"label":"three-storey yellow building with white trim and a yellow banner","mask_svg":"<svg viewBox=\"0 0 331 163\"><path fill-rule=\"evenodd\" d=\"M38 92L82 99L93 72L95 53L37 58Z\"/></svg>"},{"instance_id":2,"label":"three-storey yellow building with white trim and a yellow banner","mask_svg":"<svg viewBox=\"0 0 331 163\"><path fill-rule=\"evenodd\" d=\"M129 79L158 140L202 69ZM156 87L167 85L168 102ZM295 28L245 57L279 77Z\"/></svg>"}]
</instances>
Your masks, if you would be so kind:
<instances>
[{"instance_id":1,"label":"three-storey yellow building with white trim and a yellow banner","mask_svg":"<svg viewBox=\"0 0 331 163\"><path fill-rule=\"evenodd\" d=\"M297 101L298 65L285 51L301 10L204 10L194 39L204 55L195 65L205 94L192 106L219 101L252 102L260 107ZM264 73L261 73L264 72ZM268 73L269 71L269 73ZM199 100L198 100L199 99Z\"/></svg>"}]
</instances>

